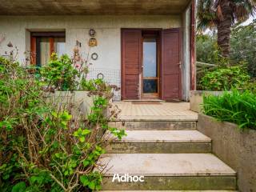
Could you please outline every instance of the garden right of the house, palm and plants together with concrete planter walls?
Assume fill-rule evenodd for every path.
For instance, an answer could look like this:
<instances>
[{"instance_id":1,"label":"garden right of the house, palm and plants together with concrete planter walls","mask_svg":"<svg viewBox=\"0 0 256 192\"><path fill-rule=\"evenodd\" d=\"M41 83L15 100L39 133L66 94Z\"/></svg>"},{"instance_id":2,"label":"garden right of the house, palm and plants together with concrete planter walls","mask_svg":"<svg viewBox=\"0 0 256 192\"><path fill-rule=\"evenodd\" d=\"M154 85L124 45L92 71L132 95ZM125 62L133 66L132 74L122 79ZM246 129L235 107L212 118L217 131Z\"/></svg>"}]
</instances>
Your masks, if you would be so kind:
<instances>
[{"instance_id":1,"label":"garden right of the house, palm and plants together with concrete planter walls","mask_svg":"<svg viewBox=\"0 0 256 192\"><path fill-rule=\"evenodd\" d=\"M197 61L205 65L190 108L199 112L197 128L211 138L213 153L236 170L238 190L254 191L256 6L199 0L197 8Z\"/></svg>"}]
</instances>

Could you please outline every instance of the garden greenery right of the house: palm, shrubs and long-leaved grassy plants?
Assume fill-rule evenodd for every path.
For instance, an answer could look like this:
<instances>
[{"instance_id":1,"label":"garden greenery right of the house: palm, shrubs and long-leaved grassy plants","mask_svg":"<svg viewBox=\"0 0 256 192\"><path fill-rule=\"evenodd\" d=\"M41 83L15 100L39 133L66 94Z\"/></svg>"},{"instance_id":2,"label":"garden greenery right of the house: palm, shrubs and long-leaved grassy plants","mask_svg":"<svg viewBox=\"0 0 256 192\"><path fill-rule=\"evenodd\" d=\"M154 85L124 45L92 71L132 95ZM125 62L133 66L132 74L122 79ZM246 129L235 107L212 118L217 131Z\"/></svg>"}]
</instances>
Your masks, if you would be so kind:
<instances>
[{"instance_id":1,"label":"garden greenery right of the house: palm, shrubs and long-leaved grassy plants","mask_svg":"<svg viewBox=\"0 0 256 192\"><path fill-rule=\"evenodd\" d=\"M224 21L227 13L217 10L217 14L211 14L210 5L206 1L198 3L197 61L214 64L197 74L197 90L206 93L202 96L201 111L218 121L234 122L242 130L255 130L256 20L241 25L250 14L254 15L255 7L250 2L246 2L246 6L238 3L234 7L245 11L238 13L234 9L233 20L225 18ZM222 26L222 22L230 22L230 26ZM202 32L206 28L210 28L209 33Z\"/></svg>"}]
</instances>

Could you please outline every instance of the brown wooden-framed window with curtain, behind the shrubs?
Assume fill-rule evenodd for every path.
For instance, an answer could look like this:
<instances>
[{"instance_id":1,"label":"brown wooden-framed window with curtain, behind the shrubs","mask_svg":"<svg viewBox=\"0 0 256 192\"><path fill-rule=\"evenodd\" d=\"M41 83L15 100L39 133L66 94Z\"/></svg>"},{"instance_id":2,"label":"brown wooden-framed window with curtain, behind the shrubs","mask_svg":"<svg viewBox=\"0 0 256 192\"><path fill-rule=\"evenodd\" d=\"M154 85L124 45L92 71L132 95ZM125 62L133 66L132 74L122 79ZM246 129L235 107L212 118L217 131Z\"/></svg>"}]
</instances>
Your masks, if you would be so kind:
<instances>
[{"instance_id":1,"label":"brown wooden-framed window with curtain, behind the shrubs","mask_svg":"<svg viewBox=\"0 0 256 192\"><path fill-rule=\"evenodd\" d=\"M45 66L50 61L50 55L58 56L66 53L65 32L32 32L31 33L31 63Z\"/></svg>"}]
</instances>

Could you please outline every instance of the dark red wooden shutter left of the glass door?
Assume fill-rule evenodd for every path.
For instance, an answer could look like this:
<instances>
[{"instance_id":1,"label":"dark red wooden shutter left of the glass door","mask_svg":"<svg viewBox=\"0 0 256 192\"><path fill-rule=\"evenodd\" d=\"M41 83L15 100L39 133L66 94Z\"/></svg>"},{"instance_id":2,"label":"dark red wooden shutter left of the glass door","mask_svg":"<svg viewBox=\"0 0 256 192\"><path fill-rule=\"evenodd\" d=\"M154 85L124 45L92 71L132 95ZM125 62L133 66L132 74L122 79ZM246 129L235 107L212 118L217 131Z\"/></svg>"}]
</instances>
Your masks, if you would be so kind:
<instances>
[{"instance_id":1,"label":"dark red wooden shutter left of the glass door","mask_svg":"<svg viewBox=\"0 0 256 192\"><path fill-rule=\"evenodd\" d=\"M140 98L142 30L122 30L122 99Z\"/></svg>"}]
</instances>

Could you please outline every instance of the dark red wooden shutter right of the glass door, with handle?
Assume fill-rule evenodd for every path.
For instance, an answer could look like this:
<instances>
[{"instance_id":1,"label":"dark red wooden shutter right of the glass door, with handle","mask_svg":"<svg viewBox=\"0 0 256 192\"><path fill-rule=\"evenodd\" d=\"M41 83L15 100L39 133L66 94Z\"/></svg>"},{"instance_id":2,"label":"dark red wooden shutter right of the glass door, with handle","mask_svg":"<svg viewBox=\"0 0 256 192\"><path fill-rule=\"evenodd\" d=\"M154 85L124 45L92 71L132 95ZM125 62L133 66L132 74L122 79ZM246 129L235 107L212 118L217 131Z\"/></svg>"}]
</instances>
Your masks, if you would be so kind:
<instances>
[{"instance_id":1,"label":"dark red wooden shutter right of the glass door, with handle","mask_svg":"<svg viewBox=\"0 0 256 192\"><path fill-rule=\"evenodd\" d=\"M182 50L180 29L162 30L162 99L182 99Z\"/></svg>"}]
</instances>

